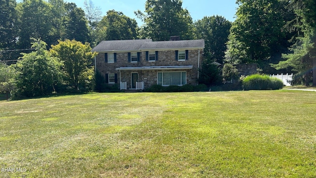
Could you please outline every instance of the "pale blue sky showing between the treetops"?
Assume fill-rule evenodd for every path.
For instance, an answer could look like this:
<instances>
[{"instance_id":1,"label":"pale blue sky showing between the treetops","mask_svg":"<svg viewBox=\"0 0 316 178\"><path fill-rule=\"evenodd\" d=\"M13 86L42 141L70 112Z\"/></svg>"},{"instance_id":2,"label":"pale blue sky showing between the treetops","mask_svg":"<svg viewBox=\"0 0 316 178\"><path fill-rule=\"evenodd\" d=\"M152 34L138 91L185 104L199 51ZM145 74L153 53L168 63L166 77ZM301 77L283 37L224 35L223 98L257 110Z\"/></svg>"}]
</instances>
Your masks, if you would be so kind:
<instances>
[{"instance_id":1,"label":"pale blue sky showing between the treetops","mask_svg":"<svg viewBox=\"0 0 316 178\"><path fill-rule=\"evenodd\" d=\"M83 8L84 0L66 0L75 2L77 6ZM146 0L92 0L95 6L102 10L102 16L106 15L108 10L114 9L123 12L124 15L134 18L138 25L142 24L134 11L145 10ZM183 0L182 7L189 10L193 21L202 19L204 16L221 15L227 20L233 22L236 13L237 4L235 0Z\"/></svg>"}]
</instances>

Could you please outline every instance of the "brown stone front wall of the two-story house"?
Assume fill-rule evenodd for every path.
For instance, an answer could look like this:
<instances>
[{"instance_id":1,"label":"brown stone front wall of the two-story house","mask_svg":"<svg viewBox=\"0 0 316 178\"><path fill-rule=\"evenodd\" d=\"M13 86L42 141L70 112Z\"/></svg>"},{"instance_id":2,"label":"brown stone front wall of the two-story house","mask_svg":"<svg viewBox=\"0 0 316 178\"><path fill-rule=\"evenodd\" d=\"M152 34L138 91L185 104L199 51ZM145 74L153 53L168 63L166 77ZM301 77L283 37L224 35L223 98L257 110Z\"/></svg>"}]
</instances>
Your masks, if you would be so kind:
<instances>
[{"instance_id":1,"label":"brown stone front wall of the two-story house","mask_svg":"<svg viewBox=\"0 0 316 178\"><path fill-rule=\"evenodd\" d=\"M184 61L176 60L176 50L158 50L157 61L146 61L146 51L128 51L141 52L138 62L129 62L128 52L116 52L116 61L114 63L107 63L105 60L105 53L99 52L95 58L96 70L106 77L106 74L117 74L118 83L126 82L127 89L131 89L131 75L138 74L138 82L144 82L145 89L158 84L158 72L186 72L187 84L197 85L198 67L201 68L203 49L187 49L188 59ZM180 49L185 50L185 49ZM153 51L154 52L154 51ZM117 70L120 67L150 67L150 66L193 66L192 69L165 69L165 70Z\"/></svg>"}]
</instances>

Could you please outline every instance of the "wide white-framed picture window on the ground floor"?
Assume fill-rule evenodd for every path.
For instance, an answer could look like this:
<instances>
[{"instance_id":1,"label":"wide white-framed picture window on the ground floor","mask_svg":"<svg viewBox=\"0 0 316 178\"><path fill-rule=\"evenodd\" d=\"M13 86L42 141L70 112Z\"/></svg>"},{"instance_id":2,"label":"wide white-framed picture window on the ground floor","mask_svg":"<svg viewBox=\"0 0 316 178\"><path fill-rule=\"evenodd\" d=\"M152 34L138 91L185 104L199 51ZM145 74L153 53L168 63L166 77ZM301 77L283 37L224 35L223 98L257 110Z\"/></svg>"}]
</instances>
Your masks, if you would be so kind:
<instances>
[{"instance_id":1,"label":"wide white-framed picture window on the ground floor","mask_svg":"<svg viewBox=\"0 0 316 178\"><path fill-rule=\"evenodd\" d=\"M182 86L187 84L187 72L158 72L158 85Z\"/></svg>"}]
</instances>

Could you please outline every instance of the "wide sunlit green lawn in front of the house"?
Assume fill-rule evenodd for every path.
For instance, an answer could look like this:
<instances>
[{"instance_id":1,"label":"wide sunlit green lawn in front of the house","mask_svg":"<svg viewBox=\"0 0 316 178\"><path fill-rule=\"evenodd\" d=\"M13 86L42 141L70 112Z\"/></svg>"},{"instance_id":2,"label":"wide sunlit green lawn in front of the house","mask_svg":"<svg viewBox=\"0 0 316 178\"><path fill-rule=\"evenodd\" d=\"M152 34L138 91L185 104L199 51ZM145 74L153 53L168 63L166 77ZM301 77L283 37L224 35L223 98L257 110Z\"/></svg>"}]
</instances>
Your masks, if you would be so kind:
<instances>
[{"instance_id":1,"label":"wide sunlit green lawn in front of the house","mask_svg":"<svg viewBox=\"0 0 316 178\"><path fill-rule=\"evenodd\" d=\"M315 178L316 92L0 101L0 177Z\"/></svg>"}]
</instances>

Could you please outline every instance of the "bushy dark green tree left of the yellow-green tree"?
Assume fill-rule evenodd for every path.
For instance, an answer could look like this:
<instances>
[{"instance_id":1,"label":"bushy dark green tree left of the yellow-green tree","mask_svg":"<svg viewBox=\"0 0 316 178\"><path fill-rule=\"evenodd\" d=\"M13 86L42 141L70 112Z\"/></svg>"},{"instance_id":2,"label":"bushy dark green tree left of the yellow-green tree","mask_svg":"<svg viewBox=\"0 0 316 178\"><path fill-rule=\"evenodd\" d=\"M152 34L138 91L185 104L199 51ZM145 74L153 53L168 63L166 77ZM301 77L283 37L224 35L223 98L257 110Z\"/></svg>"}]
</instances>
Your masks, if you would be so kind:
<instances>
[{"instance_id":1,"label":"bushy dark green tree left of the yellow-green tree","mask_svg":"<svg viewBox=\"0 0 316 178\"><path fill-rule=\"evenodd\" d=\"M22 60L16 64L16 92L27 97L52 93L60 75L60 63L46 50L47 44L33 40L31 47L36 51L23 53Z\"/></svg>"}]
</instances>

